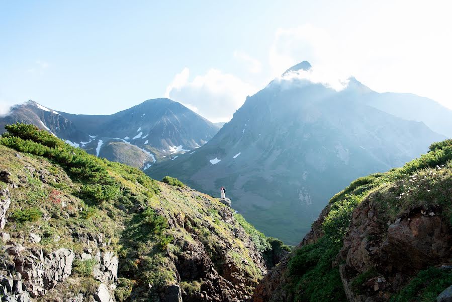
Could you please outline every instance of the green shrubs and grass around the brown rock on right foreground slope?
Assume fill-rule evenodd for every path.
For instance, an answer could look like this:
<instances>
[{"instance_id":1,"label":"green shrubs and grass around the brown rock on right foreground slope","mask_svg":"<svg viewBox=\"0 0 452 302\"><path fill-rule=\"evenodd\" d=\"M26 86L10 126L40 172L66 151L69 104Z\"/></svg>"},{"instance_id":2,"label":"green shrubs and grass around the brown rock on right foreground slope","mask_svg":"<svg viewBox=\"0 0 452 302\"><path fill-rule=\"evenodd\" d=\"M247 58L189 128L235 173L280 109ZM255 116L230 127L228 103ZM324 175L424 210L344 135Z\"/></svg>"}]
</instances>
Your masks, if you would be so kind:
<instances>
[{"instance_id":1,"label":"green shrubs and grass around the brown rock on right foreground slope","mask_svg":"<svg viewBox=\"0 0 452 302\"><path fill-rule=\"evenodd\" d=\"M439 214L452 224L451 187L452 140L432 144L430 152L402 168L353 181L330 200L331 208L322 223L324 236L292 254L286 290L296 301L346 300L338 266L332 262L342 247L353 209L365 198L374 198L380 203L379 215L394 221L407 209L426 205L440 209ZM428 300L445 288L434 284L447 282L452 282L450 272L420 271L393 300Z\"/></svg>"}]
</instances>

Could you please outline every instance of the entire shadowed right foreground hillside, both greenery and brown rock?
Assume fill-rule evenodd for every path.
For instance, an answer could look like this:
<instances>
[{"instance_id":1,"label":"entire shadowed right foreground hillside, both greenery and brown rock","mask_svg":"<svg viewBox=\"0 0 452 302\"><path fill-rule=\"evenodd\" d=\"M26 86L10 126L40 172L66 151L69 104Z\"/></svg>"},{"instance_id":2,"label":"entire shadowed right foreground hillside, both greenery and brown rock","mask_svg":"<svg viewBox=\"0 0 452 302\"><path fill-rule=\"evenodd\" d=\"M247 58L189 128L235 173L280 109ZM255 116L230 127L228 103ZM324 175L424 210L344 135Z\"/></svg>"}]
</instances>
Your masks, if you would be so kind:
<instances>
[{"instance_id":1,"label":"entire shadowed right foreground hillside, both greenery and brown rock","mask_svg":"<svg viewBox=\"0 0 452 302\"><path fill-rule=\"evenodd\" d=\"M356 179L251 301L452 299L451 188L452 140L402 168Z\"/></svg>"}]
</instances>

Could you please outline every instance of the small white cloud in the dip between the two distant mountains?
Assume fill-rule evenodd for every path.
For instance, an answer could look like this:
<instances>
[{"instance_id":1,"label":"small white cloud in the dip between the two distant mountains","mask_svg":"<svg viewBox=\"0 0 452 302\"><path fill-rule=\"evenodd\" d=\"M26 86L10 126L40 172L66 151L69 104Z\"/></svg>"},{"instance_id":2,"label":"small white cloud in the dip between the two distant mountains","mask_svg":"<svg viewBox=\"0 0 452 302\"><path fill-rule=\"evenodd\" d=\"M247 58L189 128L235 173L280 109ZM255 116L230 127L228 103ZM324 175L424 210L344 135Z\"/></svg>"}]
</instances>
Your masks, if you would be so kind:
<instances>
[{"instance_id":1,"label":"small white cloud in the dip between the two distant mountains","mask_svg":"<svg viewBox=\"0 0 452 302\"><path fill-rule=\"evenodd\" d=\"M246 96L257 90L230 73L209 69L189 81L190 70L177 73L166 88L165 97L184 104L212 122L229 121L244 103Z\"/></svg>"}]
</instances>

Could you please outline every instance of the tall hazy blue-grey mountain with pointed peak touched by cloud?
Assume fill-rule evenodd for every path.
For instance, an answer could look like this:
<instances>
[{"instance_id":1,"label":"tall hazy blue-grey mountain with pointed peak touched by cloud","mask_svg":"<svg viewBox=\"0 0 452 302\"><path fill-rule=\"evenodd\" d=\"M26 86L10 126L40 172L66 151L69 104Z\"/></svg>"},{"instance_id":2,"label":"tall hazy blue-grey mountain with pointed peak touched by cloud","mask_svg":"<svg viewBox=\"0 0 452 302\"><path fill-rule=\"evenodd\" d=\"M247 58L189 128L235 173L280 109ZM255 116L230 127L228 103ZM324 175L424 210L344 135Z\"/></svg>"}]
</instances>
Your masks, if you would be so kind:
<instances>
[{"instance_id":1,"label":"tall hazy blue-grey mountain with pointed peak touched by cloud","mask_svg":"<svg viewBox=\"0 0 452 302\"><path fill-rule=\"evenodd\" d=\"M422 122L370 106L380 94L353 79L335 91L297 78L310 68L306 61L289 68L247 97L204 146L147 173L215 196L225 186L257 229L295 245L350 181L402 166L444 139Z\"/></svg>"}]
</instances>

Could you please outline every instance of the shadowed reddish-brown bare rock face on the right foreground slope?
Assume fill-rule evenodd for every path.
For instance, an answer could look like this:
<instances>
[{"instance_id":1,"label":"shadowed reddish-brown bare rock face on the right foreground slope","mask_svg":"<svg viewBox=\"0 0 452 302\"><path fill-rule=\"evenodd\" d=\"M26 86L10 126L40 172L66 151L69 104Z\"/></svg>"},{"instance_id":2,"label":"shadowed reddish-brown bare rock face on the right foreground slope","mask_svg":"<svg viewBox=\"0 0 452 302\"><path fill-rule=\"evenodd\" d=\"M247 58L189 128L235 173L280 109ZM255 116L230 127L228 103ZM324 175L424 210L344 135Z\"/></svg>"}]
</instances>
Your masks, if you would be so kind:
<instances>
[{"instance_id":1,"label":"shadowed reddish-brown bare rock face on the right foreground slope","mask_svg":"<svg viewBox=\"0 0 452 302\"><path fill-rule=\"evenodd\" d=\"M350 301L367 298L389 300L418 270L448 263L451 255L452 230L439 209L413 208L395 222L385 223L384 214L365 199L353 211L341 256L346 264L341 277ZM359 273L376 269L380 280L365 283L367 292L354 293L349 283Z\"/></svg>"}]
</instances>

